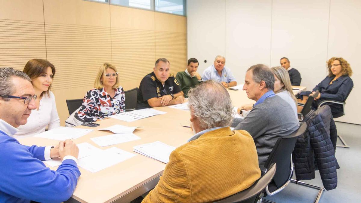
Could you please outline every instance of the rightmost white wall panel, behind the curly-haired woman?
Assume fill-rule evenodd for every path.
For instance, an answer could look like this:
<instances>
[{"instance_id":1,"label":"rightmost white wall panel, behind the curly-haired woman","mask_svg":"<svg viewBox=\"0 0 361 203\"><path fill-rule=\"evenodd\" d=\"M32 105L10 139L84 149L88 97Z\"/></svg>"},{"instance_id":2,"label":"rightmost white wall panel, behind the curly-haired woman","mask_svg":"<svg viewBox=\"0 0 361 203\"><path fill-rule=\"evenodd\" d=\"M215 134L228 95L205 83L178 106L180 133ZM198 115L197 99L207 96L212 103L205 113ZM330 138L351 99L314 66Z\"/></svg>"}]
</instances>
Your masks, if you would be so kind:
<instances>
[{"instance_id":1,"label":"rightmost white wall panel, behind the curly-haired woman","mask_svg":"<svg viewBox=\"0 0 361 203\"><path fill-rule=\"evenodd\" d=\"M328 56L343 57L351 65L353 90L347 98L346 115L338 121L361 124L361 1L331 0ZM345 12L342 12L345 11Z\"/></svg>"}]
</instances>

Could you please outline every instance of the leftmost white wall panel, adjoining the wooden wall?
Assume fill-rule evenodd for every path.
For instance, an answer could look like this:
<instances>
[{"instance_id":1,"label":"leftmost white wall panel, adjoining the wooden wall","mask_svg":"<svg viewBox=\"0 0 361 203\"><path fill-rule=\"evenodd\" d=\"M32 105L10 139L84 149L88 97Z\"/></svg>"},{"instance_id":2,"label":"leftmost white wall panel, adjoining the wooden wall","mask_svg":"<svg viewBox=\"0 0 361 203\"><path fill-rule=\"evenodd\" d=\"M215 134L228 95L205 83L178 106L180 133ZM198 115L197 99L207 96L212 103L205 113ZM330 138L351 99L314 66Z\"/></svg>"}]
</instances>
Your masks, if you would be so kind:
<instances>
[{"instance_id":1,"label":"leftmost white wall panel, adjoining the wooden wall","mask_svg":"<svg viewBox=\"0 0 361 203\"><path fill-rule=\"evenodd\" d=\"M214 57L226 53L225 9L225 0L187 1L188 59L198 59L200 74L213 64Z\"/></svg>"}]
</instances>

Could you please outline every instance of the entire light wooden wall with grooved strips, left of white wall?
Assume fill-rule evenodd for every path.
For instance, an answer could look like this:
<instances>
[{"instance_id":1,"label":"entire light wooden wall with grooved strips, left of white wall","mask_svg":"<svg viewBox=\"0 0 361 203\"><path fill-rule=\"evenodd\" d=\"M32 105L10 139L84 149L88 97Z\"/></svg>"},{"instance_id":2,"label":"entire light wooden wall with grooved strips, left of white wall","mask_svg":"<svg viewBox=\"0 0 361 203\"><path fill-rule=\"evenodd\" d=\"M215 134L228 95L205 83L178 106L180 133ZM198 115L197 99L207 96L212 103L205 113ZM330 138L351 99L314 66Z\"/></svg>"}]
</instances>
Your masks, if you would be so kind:
<instances>
[{"instance_id":1,"label":"entire light wooden wall with grooved strips, left of white wall","mask_svg":"<svg viewBox=\"0 0 361 203\"><path fill-rule=\"evenodd\" d=\"M65 100L83 98L104 62L117 67L125 90L138 87L159 57L170 60L173 73L186 67L185 17L85 0L0 5L0 67L52 62L61 125L69 116Z\"/></svg>"}]
</instances>

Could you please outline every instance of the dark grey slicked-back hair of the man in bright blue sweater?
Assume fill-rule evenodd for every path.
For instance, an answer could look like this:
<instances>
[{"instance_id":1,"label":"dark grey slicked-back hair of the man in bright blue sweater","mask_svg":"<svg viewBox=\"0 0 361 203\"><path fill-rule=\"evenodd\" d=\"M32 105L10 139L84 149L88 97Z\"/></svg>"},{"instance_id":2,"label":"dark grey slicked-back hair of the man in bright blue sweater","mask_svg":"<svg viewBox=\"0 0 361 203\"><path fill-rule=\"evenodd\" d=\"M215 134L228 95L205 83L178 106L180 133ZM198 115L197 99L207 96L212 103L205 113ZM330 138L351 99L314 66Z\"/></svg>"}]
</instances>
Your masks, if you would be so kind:
<instances>
[{"instance_id":1,"label":"dark grey slicked-back hair of the man in bright blue sweater","mask_svg":"<svg viewBox=\"0 0 361 203\"><path fill-rule=\"evenodd\" d=\"M15 85L12 81L13 77L23 78L29 82L31 79L22 71L14 70L13 68L0 68L0 95L10 96L15 92ZM9 98L3 98L8 101Z\"/></svg>"}]
</instances>

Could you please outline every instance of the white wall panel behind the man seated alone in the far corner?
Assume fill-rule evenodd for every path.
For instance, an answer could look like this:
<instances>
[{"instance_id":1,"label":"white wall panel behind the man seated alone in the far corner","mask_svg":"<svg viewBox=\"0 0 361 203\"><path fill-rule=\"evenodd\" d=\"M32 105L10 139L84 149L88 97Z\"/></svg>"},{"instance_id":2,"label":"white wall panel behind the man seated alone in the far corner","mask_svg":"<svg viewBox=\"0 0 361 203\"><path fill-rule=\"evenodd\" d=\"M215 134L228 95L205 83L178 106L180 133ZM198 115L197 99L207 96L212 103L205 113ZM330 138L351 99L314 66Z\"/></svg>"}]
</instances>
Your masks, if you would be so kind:
<instances>
[{"instance_id":1,"label":"white wall panel behind the man seated alone in the far corner","mask_svg":"<svg viewBox=\"0 0 361 203\"><path fill-rule=\"evenodd\" d=\"M329 0L273 0L271 66L288 57L312 90L326 76Z\"/></svg>"}]
</instances>

